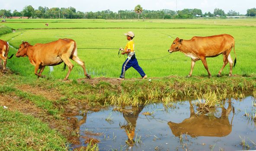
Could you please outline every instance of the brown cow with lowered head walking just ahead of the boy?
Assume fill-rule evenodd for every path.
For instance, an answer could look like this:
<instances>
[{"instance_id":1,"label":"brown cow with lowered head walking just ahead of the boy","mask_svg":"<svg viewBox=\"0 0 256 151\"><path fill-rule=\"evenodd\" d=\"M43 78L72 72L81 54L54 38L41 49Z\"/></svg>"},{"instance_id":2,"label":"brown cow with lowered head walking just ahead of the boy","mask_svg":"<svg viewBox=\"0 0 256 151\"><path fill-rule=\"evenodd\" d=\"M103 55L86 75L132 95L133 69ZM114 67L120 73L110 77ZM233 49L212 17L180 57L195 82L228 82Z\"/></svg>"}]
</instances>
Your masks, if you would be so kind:
<instances>
[{"instance_id":1,"label":"brown cow with lowered head walking just ahead of the boy","mask_svg":"<svg viewBox=\"0 0 256 151\"><path fill-rule=\"evenodd\" d=\"M83 72L89 79L91 76L86 73L84 62L77 57L77 45L72 39L59 39L58 41L52 41L47 44L35 44L30 45L28 42L22 42L19 45L19 50L16 53L16 57L29 57L30 63L35 66L35 75L42 77L41 74L45 69L45 66L56 66L62 62L68 66L67 76L64 80L67 80L73 64L69 58L77 62L83 67ZM39 72L38 72L38 69Z\"/></svg>"}]
</instances>

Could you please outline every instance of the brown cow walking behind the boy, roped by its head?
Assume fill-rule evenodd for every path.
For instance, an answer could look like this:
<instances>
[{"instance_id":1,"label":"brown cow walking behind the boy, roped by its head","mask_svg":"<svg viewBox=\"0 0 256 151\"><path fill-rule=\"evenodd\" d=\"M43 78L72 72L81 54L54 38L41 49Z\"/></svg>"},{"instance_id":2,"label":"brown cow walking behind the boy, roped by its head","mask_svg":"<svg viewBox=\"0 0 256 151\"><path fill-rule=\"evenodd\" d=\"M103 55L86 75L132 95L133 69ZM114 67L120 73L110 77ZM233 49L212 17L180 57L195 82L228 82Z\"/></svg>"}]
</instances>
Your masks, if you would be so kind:
<instances>
[{"instance_id":1,"label":"brown cow walking behind the boy, roped by its head","mask_svg":"<svg viewBox=\"0 0 256 151\"><path fill-rule=\"evenodd\" d=\"M223 66L221 70L218 72L218 76L221 76L221 72L224 69L224 67L227 65L227 62L229 62L230 70L229 70L229 76L232 75L232 66L233 66L233 60L230 56L230 51L234 47L234 53L235 53L235 40L234 37L227 34L222 35L214 35L214 36L208 36L208 37L193 37L190 40L183 40L176 38L173 41L173 44L171 45L168 52L176 52L180 51L184 53L186 56L191 57L191 70L189 72L189 76L192 76L192 71L195 66L195 61L202 60L202 63L205 66L205 69L208 72L208 76L211 77L211 73L208 69L206 57L216 57L220 54L223 55ZM236 53L235 53L236 56ZM234 66L237 61L237 56L234 60Z\"/></svg>"}]
</instances>

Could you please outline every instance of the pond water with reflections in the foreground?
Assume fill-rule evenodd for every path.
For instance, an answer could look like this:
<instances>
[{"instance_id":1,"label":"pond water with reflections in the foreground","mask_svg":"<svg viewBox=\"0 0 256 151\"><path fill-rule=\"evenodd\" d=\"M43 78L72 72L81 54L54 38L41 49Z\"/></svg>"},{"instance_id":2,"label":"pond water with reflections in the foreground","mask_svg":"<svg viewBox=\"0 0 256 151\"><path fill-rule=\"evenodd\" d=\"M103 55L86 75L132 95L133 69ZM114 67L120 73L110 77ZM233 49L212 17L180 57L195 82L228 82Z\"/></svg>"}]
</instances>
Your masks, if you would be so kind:
<instances>
[{"instance_id":1,"label":"pond water with reflections in the foreground","mask_svg":"<svg viewBox=\"0 0 256 151\"><path fill-rule=\"evenodd\" d=\"M167 109L150 104L81 113L76 116L80 145L86 146L86 137L93 137L99 139L101 151L256 150L256 123L244 116L256 113L255 98L227 99L224 107L208 114L198 113L195 101L179 101ZM147 112L152 115L144 115ZM240 145L243 139L250 148Z\"/></svg>"}]
</instances>

